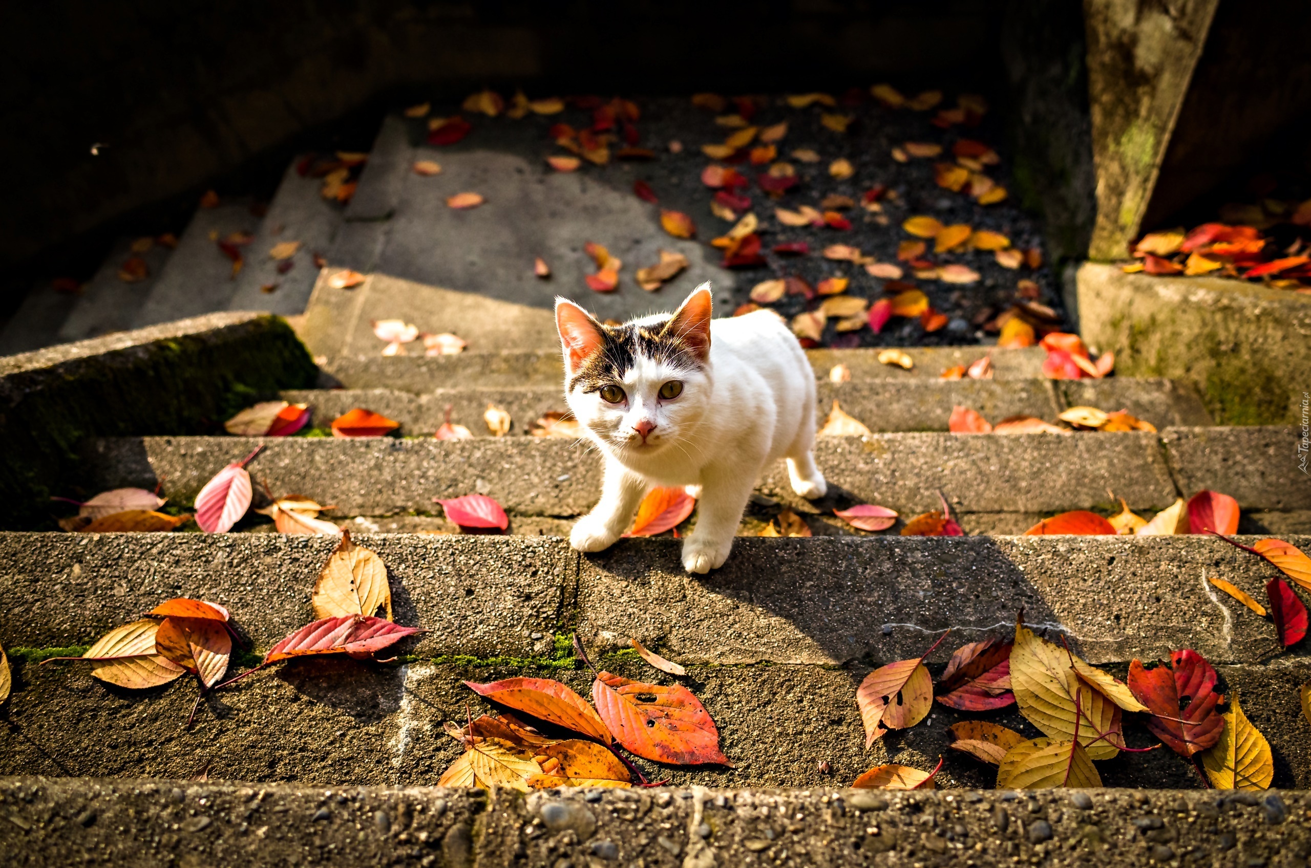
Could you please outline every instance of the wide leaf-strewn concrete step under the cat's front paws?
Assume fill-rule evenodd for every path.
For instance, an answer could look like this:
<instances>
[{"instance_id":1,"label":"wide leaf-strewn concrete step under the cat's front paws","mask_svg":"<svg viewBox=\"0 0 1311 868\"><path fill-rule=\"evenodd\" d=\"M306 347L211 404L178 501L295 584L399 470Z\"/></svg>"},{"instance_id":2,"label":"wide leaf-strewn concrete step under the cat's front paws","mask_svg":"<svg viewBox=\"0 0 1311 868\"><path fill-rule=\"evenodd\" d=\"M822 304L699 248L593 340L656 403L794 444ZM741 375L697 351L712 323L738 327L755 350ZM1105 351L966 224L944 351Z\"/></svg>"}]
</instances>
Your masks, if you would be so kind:
<instances>
[{"instance_id":1,"label":"wide leaf-strewn concrete step under the cat's front paws","mask_svg":"<svg viewBox=\"0 0 1311 868\"><path fill-rule=\"evenodd\" d=\"M248 781L433 781L459 753L443 722L464 720L465 703L473 715L489 708L461 679L536 674L586 692L591 677L561 641L577 632L599 666L628 677L670 681L623 650L631 637L686 665L735 763L644 764L653 779L829 787L880 762L931 767L941 754L943 785L987 787L990 768L947 750L947 726L973 715L935 709L867 751L853 696L874 666L920 654L952 628L928 660L939 674L956 646L1006 632L1023 607L1028 623L1121 678L1135 657L1198 650L1270 741L1276 785L1311 783L1298 704L1311 660L1280 654L1268 621L1209 590L1205 577L1218 574L1259 594L1269 572L1213 538L753 539L704 580L682 572L675 540L625 540L587 557L551 539L358 542L388 565L397 621L429 632L399 646L399 665L300 661L256 675L202 703L186 729L191 683L121 691L80 665L35 661L174 595L227 606L264 653L311 620L333 542L0 535L0 593L12 601L0 644L14 661L0 774L187 778L208 763L212 778ZM988 719L1029 732L1013 707ZM1131 746L1151 743L1141 726L1127 730ZM1100 771L1108 785L1198 785L1169 751Z\"/></svg>"}]
</instances>

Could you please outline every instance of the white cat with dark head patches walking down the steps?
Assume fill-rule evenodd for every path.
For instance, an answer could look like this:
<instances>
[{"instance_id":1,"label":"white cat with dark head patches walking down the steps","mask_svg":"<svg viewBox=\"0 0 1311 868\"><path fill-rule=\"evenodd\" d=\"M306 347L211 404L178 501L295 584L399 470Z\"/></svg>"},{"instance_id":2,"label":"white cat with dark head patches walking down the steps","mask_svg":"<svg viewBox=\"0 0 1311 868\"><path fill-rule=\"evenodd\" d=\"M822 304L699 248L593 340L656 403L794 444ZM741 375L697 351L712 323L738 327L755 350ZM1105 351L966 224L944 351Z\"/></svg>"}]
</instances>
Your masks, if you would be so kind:
<instances>
[{"instance_id":1,"label":"white cat with dark head patches walking down the steps","mask_svg":"<svg viewBox=\"0 0 1311 868\"><path fill-rule=\"evenodd\" d=\"M610 547L657 485L700 486L683 566L724 564L760 472L780 458L797 494L823 497L815 467L815 380L806 354L772 311L711 320L709 283L673 315L602 325L556 299L565 400L606 459L600 501L569 542Z\"/></svg>"}]
</instances>

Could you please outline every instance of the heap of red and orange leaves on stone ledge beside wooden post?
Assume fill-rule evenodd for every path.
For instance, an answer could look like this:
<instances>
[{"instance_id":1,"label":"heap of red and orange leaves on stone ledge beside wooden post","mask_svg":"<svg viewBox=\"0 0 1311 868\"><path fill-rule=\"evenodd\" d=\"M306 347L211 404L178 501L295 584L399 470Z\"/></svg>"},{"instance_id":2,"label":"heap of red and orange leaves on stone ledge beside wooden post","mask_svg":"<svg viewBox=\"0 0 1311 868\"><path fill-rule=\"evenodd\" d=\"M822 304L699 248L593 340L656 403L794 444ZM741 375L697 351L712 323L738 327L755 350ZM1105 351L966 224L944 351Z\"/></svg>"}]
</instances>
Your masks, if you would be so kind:
<instances>
[{"instance_id":1,"label":"heap of red and orange leaves on stone ledge beside wooden post","mask_svg":"<svg viewBox=\"0 0 1311 868\"><path fill-rule=\"evenodd\" d=\"M1311 227L1311 201L1282 215L1295 227ZM1266 222L1262 220L1262 224ZM1266 286L1311 292L1311 247L1299 233L1280 249L1273 237L1256 226L1203 223L1192 231L1183 228L1150 232L1134 245L1137 261L1126 273L1211 274L1215 277L1261 281Z\"/></svg>"}]
</instances>

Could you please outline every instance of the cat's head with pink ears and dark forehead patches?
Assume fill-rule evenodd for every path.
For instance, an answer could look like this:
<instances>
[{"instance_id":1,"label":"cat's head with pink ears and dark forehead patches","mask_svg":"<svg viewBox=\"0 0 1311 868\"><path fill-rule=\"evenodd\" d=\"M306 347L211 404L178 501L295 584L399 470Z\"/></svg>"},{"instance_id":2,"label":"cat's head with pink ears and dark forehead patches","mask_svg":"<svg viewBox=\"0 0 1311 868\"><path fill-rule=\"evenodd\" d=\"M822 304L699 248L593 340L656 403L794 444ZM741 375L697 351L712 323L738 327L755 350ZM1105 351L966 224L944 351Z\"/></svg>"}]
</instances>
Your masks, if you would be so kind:
<instances>
[{"instance_id":1,"label":"cat's head with pink ears and dark forehead patches","mask_svg":"<svg viewBox=\"0 0 1311 868\"><path fill-rule=\"evenodd\" d=\"M617 458L686 454L711 409L711 292L697 287L673 315L602 325L556 302L565 397ZM695 458L687 454L686 458Z\"/></svg>"}]
</instances>

